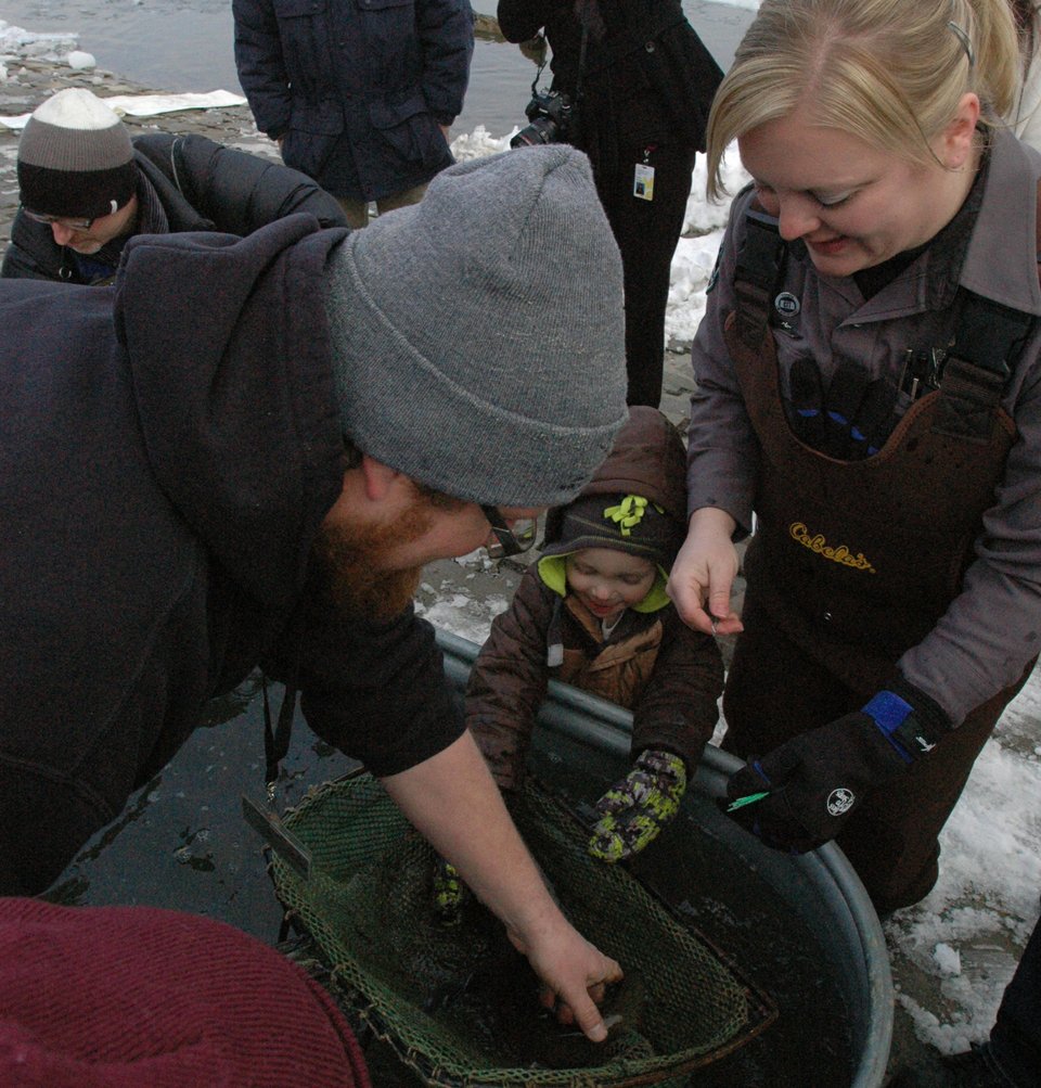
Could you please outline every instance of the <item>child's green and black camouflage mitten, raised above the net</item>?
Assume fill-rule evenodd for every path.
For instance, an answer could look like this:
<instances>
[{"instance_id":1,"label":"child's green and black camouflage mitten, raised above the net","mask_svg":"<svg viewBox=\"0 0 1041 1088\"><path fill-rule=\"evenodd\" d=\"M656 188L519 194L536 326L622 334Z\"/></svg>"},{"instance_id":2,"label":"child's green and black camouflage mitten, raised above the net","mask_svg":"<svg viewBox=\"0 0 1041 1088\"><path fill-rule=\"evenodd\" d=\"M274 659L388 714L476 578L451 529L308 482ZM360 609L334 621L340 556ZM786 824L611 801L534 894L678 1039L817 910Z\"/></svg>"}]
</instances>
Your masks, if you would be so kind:
<instances>
[{"instance_id":1,"label":"child's green and black camouflage mitten, raised above the net","mask_svg":"<svg viewBox=\"0 0 1041 1088\"><path fill-rule=\"evenodd\" d=\"M680 809L686 791L686 767L671 752L648 749L633 769L596 803L600 818L588 851L602 862L639 854Z\"/></svg>"}]
</instances>

